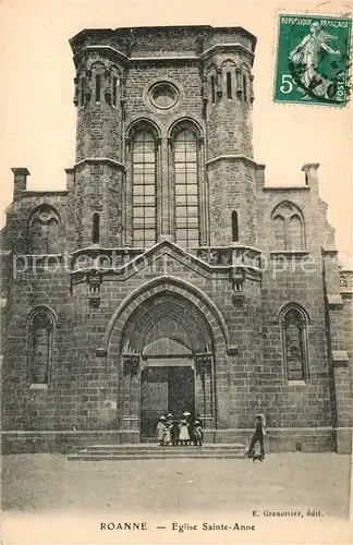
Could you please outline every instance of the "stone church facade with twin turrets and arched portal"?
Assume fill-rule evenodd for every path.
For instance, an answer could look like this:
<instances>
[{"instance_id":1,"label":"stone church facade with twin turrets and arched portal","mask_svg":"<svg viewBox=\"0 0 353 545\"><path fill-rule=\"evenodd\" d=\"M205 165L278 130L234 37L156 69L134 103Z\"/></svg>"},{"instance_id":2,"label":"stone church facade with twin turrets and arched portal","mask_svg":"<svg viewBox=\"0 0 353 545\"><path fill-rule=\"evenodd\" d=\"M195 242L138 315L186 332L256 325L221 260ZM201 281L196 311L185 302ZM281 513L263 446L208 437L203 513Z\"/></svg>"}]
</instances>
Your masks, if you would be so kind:
<instances>
[{"instance_id":1,"label":"stone church facade with twin turrets and arched portal","mask_svg":"<svg viewBox=\"0 0 353 545\"><path fill-rule=\"evenodd\" d=\"M72 38L66 190L14 168L2 232L8 450L150 440L184 410L209 443L264 412L271 450L350 450L353 274L318 165L265 185L255 45L241 27Z\"/></svg>"}]
</instances>

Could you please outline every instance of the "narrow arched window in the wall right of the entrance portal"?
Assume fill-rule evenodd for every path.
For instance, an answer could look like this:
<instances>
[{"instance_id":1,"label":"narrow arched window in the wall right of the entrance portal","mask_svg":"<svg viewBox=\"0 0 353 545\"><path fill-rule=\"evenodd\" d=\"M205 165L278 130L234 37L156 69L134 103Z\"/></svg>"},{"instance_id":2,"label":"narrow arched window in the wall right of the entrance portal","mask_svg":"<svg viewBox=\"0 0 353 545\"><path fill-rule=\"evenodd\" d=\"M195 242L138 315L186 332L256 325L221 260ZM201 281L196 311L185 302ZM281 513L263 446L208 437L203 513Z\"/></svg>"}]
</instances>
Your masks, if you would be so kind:
<instances>
[{"instance_id":1,"label":"narrow arched window in the wall right of the entrance portal","mask_svg":"<svg viewBox=\"0 0 353 545\"><path fill-rule=\"evenodd\" d=\"M281 315L283 363L287 380L307 380L307 315L295 305Z\"/></svg>"}]
</instances>

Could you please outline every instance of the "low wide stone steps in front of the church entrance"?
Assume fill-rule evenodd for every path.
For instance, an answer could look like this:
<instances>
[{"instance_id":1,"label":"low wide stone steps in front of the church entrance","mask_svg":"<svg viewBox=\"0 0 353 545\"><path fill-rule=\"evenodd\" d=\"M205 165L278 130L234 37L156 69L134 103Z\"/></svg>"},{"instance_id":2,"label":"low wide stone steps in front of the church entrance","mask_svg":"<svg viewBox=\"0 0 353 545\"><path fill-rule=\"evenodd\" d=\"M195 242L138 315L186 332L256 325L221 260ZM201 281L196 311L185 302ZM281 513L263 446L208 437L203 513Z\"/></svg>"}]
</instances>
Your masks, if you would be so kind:
<instances>
[{"instance_id":1,"label":"low wide stone steps in front of the church entrance","mask_svg":"<svg viewBox=\"0 0 353 545\"><path fill-rule=\"evenodd\" d=\"M157 444L136 445L93 445L69 455L68 460L167 460L181 458L236 459L244 457L245 447L240 443L206 444L202 447L160 447Z\"/></svg>"}]
</instances>

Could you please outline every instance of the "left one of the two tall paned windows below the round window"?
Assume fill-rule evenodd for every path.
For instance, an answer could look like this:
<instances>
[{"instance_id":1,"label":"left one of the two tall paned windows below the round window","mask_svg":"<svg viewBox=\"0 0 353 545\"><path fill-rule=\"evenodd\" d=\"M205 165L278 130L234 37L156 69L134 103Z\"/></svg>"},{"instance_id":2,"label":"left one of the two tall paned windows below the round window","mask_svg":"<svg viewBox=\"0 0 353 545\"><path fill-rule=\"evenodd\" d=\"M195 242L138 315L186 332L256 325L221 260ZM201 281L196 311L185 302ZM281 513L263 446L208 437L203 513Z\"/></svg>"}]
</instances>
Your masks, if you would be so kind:
<instances>
[{"instance_id":1,"label":"left one of the two tall paned windows below the round window","mask_svg":"<svg viewBox=\"0 0 353 545\"><path fill-rule=\"evenodd\" d=\"M133 141L133 245L156 243L156 142L139 131Z\"/></svg>"}]
</instances>

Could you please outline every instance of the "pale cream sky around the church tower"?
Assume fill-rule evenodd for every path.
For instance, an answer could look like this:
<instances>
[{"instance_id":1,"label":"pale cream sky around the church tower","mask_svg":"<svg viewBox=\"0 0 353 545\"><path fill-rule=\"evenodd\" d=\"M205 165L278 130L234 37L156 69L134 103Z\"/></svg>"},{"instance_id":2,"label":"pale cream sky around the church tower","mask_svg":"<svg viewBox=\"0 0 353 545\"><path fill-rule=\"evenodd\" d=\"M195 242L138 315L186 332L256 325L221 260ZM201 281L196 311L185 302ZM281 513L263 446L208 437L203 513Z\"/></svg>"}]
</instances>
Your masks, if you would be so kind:
<instances>
[{"instance_id":1,"label":"pale cream sky around the church tower","mask_svg":"<svg viewBox=\"0 0 353 545\"><path fill-rule=\"evenodd\" d=\"M345 108L272 100L280 13L349 14L351 2L2 0L1 227L12 201L12 167L31 171L27 189L65 189L74 164L76 110L69 39L83 28L243 26L257 36L253 109L255 160L268 185L304 183L319 162L319 190L343 263L352 263L352 104Z\"/></svg>"}]
</instances>

